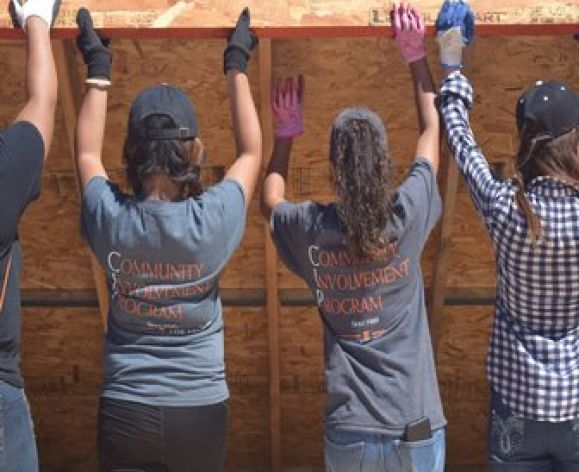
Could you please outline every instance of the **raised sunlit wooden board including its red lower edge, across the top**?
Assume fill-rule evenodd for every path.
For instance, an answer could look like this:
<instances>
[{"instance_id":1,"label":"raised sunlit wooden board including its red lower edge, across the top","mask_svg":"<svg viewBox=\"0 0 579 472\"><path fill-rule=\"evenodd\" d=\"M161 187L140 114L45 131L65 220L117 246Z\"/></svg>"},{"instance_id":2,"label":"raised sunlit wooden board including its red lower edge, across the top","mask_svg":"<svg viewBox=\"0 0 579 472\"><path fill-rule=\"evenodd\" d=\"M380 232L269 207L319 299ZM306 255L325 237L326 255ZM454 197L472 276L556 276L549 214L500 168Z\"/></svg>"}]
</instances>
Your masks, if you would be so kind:
<instances>
[{"instance_id":1,"label":"raised sunlit wooden board including its red lower edge, across the top","mask_svg":"<svg viewBox=\"0 0 579 472\"><path fill-rule=\"evenodd\" d=\"M414 0L427 25L440 0ZM480 36L579 33L576 0L471 0ZM252 26L264 38L390 36L388 6L381 0L63 0L53 34L76 35L80 6L93 12L95 25L113 38L221 38L237 15L251 9ZM429 28L432 34L432 27ZM0 38L17 38L7 12L0 14Z\"/></svg>"}]
</instances>

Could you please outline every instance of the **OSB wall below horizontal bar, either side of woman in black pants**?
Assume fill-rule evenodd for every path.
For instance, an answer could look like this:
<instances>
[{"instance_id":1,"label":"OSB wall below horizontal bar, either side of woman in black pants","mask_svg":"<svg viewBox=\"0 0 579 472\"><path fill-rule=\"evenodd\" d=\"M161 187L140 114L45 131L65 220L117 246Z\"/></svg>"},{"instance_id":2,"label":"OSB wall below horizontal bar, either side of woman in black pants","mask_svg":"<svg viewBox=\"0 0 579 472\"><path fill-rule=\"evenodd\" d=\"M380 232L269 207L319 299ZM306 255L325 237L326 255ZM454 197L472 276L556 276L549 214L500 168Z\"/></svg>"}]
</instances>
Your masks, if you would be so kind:
<instances>
[{"instance_id":1,"label":"OSB wall below horizontal bar, either side of woman in black pants","mask_svg":"<svg viewBox=\"0 0 579 472\"><path fill-rule=\"evenodd\" d=\"M267 342L261 309L226 309L230 416L228 470L267 470ZM97 310L25 309L23 373L41 470L93 472L101 385L102 329Z\"/></svg>"}]
</instances>

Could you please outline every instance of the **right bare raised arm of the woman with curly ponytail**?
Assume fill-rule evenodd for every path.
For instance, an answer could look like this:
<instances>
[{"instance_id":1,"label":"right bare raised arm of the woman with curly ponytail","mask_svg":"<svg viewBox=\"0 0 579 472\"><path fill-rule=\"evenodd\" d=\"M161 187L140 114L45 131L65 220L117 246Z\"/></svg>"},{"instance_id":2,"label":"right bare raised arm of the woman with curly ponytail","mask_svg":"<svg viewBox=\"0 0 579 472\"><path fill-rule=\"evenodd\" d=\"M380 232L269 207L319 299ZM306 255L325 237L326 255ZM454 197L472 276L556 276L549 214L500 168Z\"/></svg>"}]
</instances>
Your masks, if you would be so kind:
<instances>
[{"instance_id":1,"label":"right bare raised arm of the woman with curly ponytail","mask_svg":"<svg viewBox=\"0 0 579 472\"><path fill-rule=\"evenodd\" d=\"M435 172L440 160L440 119L435 105L436 92L426 58L410 64L420 136L416 155L430 162Z\"/></svg>"}]
</instances>

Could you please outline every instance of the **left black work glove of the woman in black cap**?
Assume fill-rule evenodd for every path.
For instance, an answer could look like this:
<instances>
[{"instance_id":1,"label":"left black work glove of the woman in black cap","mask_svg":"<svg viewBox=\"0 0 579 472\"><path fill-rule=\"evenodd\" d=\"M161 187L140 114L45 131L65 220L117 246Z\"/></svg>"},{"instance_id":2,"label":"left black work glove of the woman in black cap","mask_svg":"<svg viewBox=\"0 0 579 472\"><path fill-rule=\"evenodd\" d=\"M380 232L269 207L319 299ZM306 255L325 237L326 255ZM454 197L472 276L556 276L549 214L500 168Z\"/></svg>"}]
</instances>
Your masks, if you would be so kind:
<instances>
[{"instance_id":1,"label":"left black work glove of the woman in black cap","mask_svg":"<svg viewBox=\"0 0 579 472\"><path fill-rule=\"evenodd\" d=\"M76 45L88 67L87 78L111 80L112 56L108 49L110 39L99 37L94 30L90 11L84 7L76 14L76 24Z\"/></svg>"}]
</instances>

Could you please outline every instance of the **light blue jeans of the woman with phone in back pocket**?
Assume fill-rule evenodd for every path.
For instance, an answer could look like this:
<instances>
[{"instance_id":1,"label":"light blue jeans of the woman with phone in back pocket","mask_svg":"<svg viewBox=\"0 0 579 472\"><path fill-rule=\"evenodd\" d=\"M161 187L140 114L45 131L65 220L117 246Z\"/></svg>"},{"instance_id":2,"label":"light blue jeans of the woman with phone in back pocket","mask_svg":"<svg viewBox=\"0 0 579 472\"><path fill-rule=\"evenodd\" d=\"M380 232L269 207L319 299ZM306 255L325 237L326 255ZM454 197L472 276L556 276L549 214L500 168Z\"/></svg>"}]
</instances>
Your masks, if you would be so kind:
<instances>
[{"instance_id":1,"label":"light blue jeans of the woman with phone in back pocket","mask_svg":"<svg viewBox=\"0 0 579 472\"><path fill-rule=\"evenodd\" d=\"M442 472L444 434L440 428L430 439L405 442L393 436L328 429L326 472Z\"/></svg>"}]
</instances>

